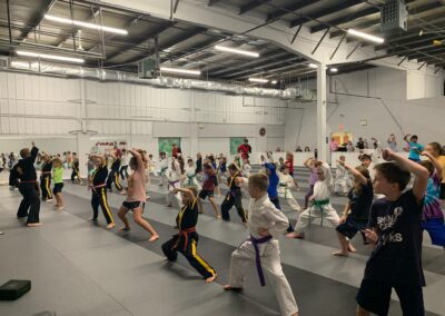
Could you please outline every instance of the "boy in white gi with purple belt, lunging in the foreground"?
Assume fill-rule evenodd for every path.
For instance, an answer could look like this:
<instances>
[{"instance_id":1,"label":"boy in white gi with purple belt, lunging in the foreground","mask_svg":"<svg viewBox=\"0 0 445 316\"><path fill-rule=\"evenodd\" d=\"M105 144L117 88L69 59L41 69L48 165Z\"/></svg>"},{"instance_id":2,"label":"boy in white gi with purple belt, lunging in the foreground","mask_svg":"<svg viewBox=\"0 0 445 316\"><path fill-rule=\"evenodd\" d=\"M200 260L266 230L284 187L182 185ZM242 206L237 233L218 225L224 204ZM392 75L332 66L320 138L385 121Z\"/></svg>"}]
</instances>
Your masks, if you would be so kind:
<instances>
[{"instance_id":1,"label":"boy in white gi with purple belt, lunging in the foreground","mask_svg":"<svg viewBox=\"0 0 445 316\"><path fill-rule=\"evenodd\" d=\"M225 290L241 290L247 268L255 263L261 286L273 287L281 315L298 315L298 306L294 294L283 273L278 240L289 226L287 217L269 200L266 175L255 174L246 178L237 178L238 186L247 186L251 197L249 203L248 228L250 238L231 254L229 284ZM266 251L267 249L267 251Z\"/></svg>"}]
</instances>

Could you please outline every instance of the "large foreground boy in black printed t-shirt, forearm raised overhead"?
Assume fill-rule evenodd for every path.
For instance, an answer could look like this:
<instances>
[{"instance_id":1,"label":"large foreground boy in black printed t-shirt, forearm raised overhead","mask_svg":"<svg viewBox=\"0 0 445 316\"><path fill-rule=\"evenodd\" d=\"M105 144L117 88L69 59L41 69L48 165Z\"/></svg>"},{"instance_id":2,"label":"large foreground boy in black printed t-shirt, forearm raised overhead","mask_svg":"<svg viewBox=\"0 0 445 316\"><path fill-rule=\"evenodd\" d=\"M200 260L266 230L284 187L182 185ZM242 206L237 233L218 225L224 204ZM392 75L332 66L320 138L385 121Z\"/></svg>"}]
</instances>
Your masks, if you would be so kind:
<instances>
[{"instance_id":1,"label":"large foreground boy in black printed t-shirt, forearm raised overhead","mask_svg":"<svg viewBox=\"0 0 445 316\"><path fill-rule=\"evenodd\" d=\"M365 276L357 294L357 315L387 315L394 288L403 314L425 314L422 268L422 209L428 170L389 149L386 161L375 167L374 190L386 198L376 200L365 234L374 251L366 264ZM415 175L413 188L403 192Z\"/></svg>"}]
</instances>

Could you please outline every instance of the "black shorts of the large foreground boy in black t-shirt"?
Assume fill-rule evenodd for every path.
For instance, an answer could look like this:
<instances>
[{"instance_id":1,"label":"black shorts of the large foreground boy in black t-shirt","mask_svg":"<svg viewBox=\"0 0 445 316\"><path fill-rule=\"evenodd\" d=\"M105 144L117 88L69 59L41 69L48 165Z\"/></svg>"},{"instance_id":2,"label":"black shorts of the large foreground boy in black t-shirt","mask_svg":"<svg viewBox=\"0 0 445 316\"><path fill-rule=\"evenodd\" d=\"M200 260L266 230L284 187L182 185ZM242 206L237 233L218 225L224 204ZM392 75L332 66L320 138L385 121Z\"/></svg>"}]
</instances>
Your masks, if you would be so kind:
<instances>
[{"instance_id":1,"label":"black shorts of the large foreground boy in black t-shirt","mask_svg":"<svg viewBox=\"0 0 445 316\"><path fill-rule=\"evenodd\" d=\"M390 293L396 290L404 316L424 316L424 296L422 286L393 285L389 283L364 279L356 297L357 304L379 316L388 315Z\"/></svg>"}]
</instances>

